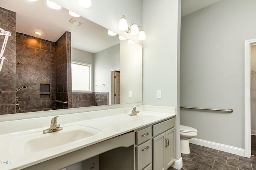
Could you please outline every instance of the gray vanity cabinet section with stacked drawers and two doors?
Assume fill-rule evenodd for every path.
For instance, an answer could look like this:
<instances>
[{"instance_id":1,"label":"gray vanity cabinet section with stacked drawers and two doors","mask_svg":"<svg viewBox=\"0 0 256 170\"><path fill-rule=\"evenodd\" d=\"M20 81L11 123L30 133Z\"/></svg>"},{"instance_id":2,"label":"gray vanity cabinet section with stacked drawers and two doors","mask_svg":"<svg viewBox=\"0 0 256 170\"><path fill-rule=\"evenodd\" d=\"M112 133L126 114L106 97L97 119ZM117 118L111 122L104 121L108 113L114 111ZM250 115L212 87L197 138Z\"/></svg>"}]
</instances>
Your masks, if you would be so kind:
<instances>
[{"instance_id":1,"label":"gray vanity cabinet section with stacked drawers and two doors","mask_svg":"<svg viewBox=\"0 0 256 170\"><path fill-rule=\"evenodd\" d=\"M136 131L136 170L166 170L175 160L175 118Z\"/></svg>"}]
</instances>

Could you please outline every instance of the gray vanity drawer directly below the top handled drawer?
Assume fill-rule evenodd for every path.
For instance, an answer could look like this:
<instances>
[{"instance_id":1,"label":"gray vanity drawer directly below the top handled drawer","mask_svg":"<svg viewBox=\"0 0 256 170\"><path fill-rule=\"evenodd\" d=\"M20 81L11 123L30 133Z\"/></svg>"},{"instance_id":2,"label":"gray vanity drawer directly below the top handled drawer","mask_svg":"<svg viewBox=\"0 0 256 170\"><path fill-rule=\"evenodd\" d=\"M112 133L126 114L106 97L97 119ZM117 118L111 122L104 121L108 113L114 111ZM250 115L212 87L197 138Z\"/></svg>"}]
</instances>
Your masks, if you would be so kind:
<instances>
[{"instance_id":1,"label":"gray vanity drawer directly below the top handled drawer","mask_svg":"<svg viewBox=\"0 0 256 170\"><path fill-rule=\"evenodd\" d=\"M152 164L152 140L136 146L136 169L142 170Z\"/></svg>"}]
</instances>

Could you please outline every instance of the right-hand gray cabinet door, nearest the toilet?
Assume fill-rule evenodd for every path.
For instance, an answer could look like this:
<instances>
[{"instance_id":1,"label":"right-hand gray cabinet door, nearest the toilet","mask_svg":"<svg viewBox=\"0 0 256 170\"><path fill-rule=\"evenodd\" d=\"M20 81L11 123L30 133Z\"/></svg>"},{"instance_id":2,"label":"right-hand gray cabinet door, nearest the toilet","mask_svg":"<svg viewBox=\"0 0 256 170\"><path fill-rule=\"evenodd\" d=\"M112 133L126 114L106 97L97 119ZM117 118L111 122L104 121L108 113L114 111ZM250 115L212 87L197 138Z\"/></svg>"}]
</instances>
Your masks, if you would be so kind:
<instances>
[{"instance_id":1,"label":"right-hand gray cabinet door, nearest the toilet","mask_svg":"<svg viewBox=\"0 0 256 170\"><path fill-rule=\"evenodd\" d=\"M175 128L166 131L166 169L174 162L175 157Z\"/></svg>"}]
</instances>

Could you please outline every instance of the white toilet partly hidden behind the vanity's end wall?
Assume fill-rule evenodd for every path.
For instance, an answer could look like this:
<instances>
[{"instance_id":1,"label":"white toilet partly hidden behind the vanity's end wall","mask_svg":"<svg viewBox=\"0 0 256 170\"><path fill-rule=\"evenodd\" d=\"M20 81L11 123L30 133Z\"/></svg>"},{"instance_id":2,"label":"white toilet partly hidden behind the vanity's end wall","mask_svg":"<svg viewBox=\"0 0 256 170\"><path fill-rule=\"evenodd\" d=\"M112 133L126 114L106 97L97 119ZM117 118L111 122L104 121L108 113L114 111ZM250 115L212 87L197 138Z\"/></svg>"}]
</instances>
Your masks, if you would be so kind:
<instances>
[{"instance_id":1,"label":"white toilet partly hidden behind the vanity's end wall","mask_svg":"<svg viewBox=\"0 0 256 170\"><path fill-rule=\"evenodd\" d=\"M180 152L182 154L190 154L188 139L194 138L196 135L195 128L180 125Z\"/></svg>"}]
</instances>

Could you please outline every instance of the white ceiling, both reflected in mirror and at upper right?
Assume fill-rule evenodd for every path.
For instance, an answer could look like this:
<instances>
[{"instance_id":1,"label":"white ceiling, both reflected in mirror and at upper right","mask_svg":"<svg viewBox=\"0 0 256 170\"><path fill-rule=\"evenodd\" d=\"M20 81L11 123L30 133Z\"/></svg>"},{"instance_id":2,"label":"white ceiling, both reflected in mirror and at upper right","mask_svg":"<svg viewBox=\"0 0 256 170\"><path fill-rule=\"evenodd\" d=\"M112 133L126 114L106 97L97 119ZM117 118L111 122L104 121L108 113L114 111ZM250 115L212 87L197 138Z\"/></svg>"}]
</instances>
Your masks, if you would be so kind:
<instances>
[{"instance_id":1,"label":"white ceiling, both reflected in mirror and at upper right","mask_svg":"<svg viewBox=\"0 0 256 170\"><path fill-rule=\"evenodd\" d=\"M182 16L214 4L220 0L182 0ZM75 18L68 10L53 10L46 0L30 2L28 0L0 0L0 6L16 12L16 31L30 36L56 42L65 31L71 32L71 45L74 48L96 53L119 43L118 36L108 36L108 30L85 18ZM81 26L69 23L75 18ZM34 34L42 32L42 36Z\"/></svg>"}]
</instances>

